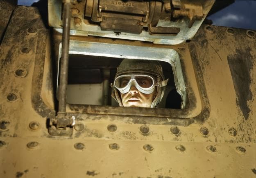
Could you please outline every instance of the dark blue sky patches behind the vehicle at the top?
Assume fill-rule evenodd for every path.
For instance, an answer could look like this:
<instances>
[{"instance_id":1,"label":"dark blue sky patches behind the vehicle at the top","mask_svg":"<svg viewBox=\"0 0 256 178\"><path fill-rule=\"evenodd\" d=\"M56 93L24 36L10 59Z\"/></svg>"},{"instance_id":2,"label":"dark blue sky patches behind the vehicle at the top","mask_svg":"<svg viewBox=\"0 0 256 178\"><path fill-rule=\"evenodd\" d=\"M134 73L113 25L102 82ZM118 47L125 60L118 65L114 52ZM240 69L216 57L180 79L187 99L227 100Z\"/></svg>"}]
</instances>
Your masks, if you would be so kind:
<instances>
[{"instance_id":1,"label":"dark blue sky patches behind the vehicle at the top","mask_svg":"<svg viewBox=\"0 0 256 178\"><path fill-rule=\"evenodd\" d=\"M18 0L18 5L30 6L38 0ZM213 25L256 30L256 1L236 0L228 7L208 16Z\"/></svg>"}]
</instances>

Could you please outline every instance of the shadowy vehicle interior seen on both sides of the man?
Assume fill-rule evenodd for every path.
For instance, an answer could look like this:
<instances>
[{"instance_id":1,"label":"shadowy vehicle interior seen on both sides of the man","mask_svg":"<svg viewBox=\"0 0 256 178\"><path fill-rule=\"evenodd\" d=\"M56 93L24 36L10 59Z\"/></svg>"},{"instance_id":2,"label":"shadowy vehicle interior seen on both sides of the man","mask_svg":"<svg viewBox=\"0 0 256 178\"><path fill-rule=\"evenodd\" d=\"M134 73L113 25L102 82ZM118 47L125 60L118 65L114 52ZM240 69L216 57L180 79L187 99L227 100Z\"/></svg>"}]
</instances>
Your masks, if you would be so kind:
<instances>
[{"instance_id":1,"label":"shadowy vehicle interior seen on both sides of the man","mask_svg":"<svg viewBox=\"0 0 256 178\"><path fill-rule=\"evenodd\" d=\"M116 75L121 58L70 54L68 68L67 102L82 105L109 105L118 107L111 97L110 84ZM181 109L181 96L174 85L172 67L159 61L165 78L169 78L162 101L157 108Z\"/></svg>"}]
</instances>

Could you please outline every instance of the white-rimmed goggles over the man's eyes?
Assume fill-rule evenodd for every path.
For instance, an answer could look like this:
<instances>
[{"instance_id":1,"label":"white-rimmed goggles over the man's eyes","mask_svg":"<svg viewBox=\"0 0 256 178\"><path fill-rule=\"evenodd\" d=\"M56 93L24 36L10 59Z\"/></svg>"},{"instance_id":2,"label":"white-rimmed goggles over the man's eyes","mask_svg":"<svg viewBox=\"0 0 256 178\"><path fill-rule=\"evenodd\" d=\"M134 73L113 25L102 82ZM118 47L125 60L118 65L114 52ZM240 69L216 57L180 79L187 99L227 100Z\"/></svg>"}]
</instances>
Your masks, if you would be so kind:
<instances>
[{"instance_id":1,"label":"white-rimmed goggles over the man's eyes","mask_svg":"<svg viewBox=\"0 0 256 178\"><path fill-rule=\"evenodd\" d=\"M155 86L158 86L155 79L149 75L118 76L112 85L122 94L128 93L131 86L135 86L141 93L150 94L154 91Z\"/></svg>"}]
</instances>

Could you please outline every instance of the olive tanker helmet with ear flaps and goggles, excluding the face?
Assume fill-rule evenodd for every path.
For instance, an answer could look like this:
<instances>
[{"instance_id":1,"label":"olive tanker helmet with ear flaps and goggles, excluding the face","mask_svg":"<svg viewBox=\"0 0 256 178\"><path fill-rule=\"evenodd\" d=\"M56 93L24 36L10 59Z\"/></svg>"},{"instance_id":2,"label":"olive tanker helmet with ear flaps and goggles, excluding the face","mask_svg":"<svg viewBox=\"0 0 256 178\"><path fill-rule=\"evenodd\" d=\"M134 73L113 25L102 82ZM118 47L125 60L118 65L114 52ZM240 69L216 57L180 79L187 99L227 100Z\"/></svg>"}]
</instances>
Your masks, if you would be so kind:
<instances>
[{"instance_id":1,"label":"olive tanker helmet with ear flaps and goggles, excluding the face","mask_svg":"<svg viewBox=\"0 0 256 178\"><path fill-rule=\"evenodd\" d=\"M140 80L147 80L147 85ZM112 97L119 103L119 106L123 106L120 93L129 92L132 85L144 94L150 94L156 88L156 95L151 104L154 108L162 100L167 82L168 79L165 80L163 69L158 61L124 59L117 68L114 82L111 83L114 89Z\"/></svg>"}]
</instances>

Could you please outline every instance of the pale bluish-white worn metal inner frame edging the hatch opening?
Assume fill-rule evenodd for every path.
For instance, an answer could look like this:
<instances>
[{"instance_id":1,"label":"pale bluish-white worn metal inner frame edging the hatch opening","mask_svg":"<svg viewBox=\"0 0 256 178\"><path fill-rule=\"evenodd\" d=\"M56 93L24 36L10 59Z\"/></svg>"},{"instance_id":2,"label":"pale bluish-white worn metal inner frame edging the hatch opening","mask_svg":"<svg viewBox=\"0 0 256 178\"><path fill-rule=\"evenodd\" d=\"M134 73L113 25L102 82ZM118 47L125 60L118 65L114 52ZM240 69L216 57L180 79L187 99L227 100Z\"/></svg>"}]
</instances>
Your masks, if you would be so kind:
<instances>
[{"instance_id":1,"label":"pale bluish-white worn metal inner frame edging the hatch opening","mask_svg":"<svg viewBox=\"0 0 256 178\"><path fill-rule=\"evenodd\" d=\"M57 86L59 80L59 62L61 57L61 46L62 45L60 44ZM69 53L82 54L88 56L102 56L111 58L139 60L159 60L168 62L172 66L175 87L177 89L177 92L181 95L181 109L184 109L186 107L186 85L181 69L179 54L174 49L70 40Z\"/></svg>"}]
</instances>

